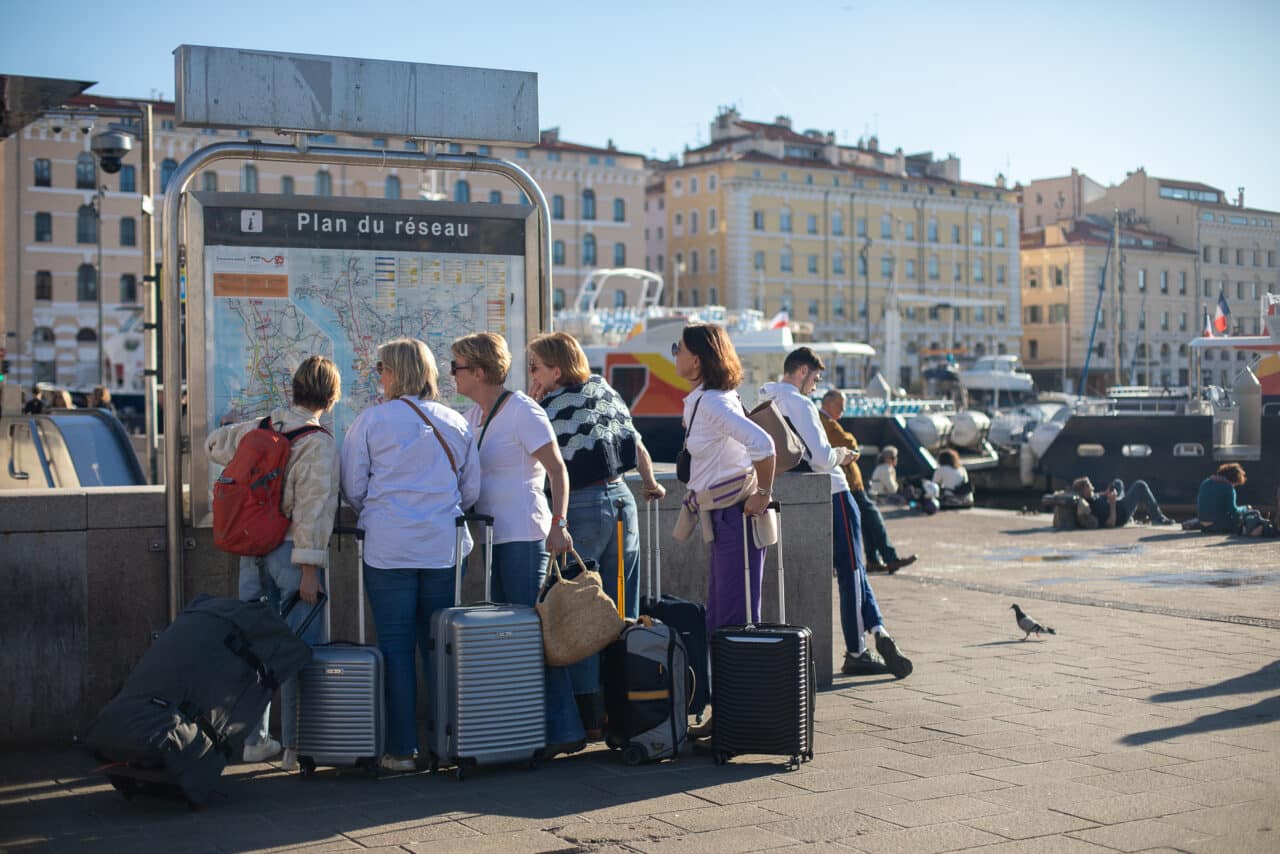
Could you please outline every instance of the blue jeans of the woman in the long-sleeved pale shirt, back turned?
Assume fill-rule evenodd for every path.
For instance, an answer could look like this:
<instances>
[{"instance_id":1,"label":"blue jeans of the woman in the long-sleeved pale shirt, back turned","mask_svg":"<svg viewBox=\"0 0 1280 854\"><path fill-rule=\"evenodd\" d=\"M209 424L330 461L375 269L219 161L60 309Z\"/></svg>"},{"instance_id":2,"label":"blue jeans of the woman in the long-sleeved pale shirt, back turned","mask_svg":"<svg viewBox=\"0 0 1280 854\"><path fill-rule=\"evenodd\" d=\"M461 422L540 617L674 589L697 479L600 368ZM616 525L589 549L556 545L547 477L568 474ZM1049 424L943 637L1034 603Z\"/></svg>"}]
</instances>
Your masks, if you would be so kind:
<instances>
[{"instance_id":1,"label":"blue jeans of the woman in the long-sleeved pale shirt, back turned","mask_svg":"<svg viewBox=\"0 0 1280 854\"><path fill-rule=\"evenodd\" d=\"M387 668L387 753L417 753L417 677L413 648L422 653L422 677L434 685L426 641L431 615L453 607L453 567L380 570L365 563L365 592Z\"/></svg>"}]
</instances>

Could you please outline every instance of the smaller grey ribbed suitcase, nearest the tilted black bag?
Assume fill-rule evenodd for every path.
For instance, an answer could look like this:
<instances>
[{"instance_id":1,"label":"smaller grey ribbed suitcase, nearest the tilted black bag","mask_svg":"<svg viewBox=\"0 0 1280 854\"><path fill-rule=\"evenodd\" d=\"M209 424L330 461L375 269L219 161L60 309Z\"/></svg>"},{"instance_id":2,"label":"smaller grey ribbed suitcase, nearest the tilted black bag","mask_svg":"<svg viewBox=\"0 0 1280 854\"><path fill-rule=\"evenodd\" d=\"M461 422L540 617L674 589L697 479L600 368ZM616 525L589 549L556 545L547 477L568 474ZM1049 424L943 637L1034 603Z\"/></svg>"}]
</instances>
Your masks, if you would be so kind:
<instances>
[{"instance_id":1,"label":"smaller grey ribbed suitcase, nearest the tilted black bag","mask_svg":"<svg viewBox=\"0 0 1280 854\"><path fill-rule=\"evenodd\" d=\"M315 773L317 766L364 767L378 775L385 749L387 709L383 688L383 653L365 645L365 533L356 535L356 609L360 643L328 643L312 649L311 663L298 675L298 772ZM329 571L325 570L325 589ZM325 636L329 615L325 613Z\"/></svg>"}]
</instances>

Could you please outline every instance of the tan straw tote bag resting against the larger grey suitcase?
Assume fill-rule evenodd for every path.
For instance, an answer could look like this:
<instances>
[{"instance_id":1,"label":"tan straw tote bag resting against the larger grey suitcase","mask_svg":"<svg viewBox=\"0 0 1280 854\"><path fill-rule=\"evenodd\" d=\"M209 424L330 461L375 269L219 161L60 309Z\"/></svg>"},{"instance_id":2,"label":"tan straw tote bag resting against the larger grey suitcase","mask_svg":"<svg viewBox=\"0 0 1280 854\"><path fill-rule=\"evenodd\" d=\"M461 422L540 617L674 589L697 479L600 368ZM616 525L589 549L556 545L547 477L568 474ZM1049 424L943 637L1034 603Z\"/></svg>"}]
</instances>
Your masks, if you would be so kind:
<instances>
[{"instance_id":1,"label":"tan straw tote bag resting against the larger grey suitcase","mask_svg":"<svg viewBox=\"0 0 1280 854\"><path fill-rule=\"evenodd\" d=\"M543 649L552 667L594 656L617 640L625 626L617 606L600 585L600 574L586 568L577 552L570 554L581 572L566 579L553 556L535 606L543 621ZM568 556L563 560L567 568Z\"/></svg>"}]
</instances>

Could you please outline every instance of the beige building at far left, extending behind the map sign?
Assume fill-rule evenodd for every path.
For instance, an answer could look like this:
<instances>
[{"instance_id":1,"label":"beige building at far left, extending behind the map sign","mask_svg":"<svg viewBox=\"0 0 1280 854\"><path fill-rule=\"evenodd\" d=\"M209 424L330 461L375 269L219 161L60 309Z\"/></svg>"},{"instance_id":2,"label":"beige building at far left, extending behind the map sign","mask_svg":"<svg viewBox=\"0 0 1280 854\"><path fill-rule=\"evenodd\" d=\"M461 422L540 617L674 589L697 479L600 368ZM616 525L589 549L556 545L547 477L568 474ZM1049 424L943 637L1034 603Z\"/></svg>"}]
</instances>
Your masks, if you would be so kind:
<instances>
[{"instance_id":1,"label":"beige building at far left, extending behind the map sign","mask_svg":"<svg viewBox=\"0 0 1280 854\"><path fill-rule=\"evenodd\" d=\"M76 108L70 120L42 119L0 142L0 255L4 256L0 293L9 382L24 387L32 382L74 388L95 384L101 292L102 351L111 387L116 392L142 389L141 152L134 146L118 174L105 174L90 154L88 122L76 118L95 104L128 106L140 102L81 96L70 105ZM283 141L271 132L178 128L172 102L156 101L152 108L155 179L161 193L178 164L197 149L251 136ZM375 149L416 145L406 140L330 134L312 140ZM444 150L463 151L458 145L445 145ZM618 151L612 142L602 147L567 142L556 129L544 131L541 142L531 149L479 146L466 150L511 160L541 187L552 206L557 301L572 298L590 268L643 261L646 175L643 156ZM483 173L280 163L223 161L197 175L192 188L361 198L524 201L513 184Z\"/></svg>"}]
</instances>

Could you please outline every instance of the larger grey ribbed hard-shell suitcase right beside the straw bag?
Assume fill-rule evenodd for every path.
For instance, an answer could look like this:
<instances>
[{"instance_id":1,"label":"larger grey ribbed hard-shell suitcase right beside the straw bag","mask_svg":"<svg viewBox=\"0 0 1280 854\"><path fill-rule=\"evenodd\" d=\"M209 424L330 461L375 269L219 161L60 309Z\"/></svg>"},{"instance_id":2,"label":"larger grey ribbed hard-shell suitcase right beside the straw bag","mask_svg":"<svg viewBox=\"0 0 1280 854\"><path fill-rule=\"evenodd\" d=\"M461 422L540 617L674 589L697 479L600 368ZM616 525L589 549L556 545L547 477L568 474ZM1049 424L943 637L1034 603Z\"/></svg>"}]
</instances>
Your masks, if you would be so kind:
<instances>
[{"instance_id":1,"label":"larger grey ribbed hard-shell suitcase right beside the straw bag","mask_svg":"<svg viewBox=\"0 0 1280 854\"><path fill-rule=\"evenodd\" d=\"M479 604L442 608L431 616L431 769L452 766L462 780L477 764L527 762L547 746L547 681L543 630L527 606L488 602L493 571L493 517L457 519L454 602L462 600L462 530L484 528L484 592Z\"/></svg>"}]
</instances>

